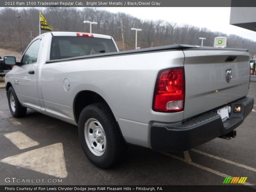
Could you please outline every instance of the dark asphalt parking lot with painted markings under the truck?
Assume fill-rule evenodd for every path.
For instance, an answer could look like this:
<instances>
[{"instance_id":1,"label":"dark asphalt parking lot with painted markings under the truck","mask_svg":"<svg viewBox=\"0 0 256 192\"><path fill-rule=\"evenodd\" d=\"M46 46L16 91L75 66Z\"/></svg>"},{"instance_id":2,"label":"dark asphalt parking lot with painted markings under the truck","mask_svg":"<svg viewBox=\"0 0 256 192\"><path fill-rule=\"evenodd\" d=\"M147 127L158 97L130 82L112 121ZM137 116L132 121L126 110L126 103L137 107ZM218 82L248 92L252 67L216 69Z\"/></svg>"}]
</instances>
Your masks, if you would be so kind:
<instances>
[{"instance_id":1,"label":"dark asphalt parking lot with painted markings under the truck","mask_svg":"<svg viewBox=\"0 0 256 192\"><path fill-rule=\"evenodd\" d=\"M256 100L256 82L249 95ZM84 155L76 126L31 110L13 118L0 89L0 185L227 185L228 176L256 185L256 104L236 131L235 139L216 138L184 153L129 146L122 163L101 170Z\"/></svg>"}]
</instances>

